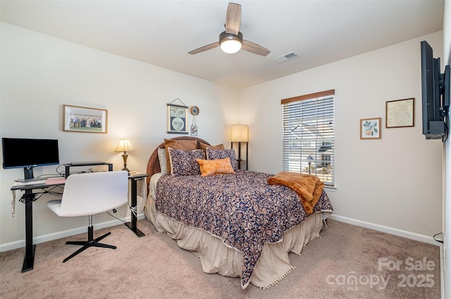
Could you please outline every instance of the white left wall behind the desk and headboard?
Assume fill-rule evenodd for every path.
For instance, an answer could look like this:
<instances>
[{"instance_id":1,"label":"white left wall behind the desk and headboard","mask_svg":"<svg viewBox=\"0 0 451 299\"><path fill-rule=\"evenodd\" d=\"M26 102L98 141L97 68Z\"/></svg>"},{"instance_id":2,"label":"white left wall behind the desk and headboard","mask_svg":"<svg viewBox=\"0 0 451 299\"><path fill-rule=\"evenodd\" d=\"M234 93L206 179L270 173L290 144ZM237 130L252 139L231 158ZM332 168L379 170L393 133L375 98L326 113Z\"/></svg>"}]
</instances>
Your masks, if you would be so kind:
<instances>
[{"instance_id":1,"label":"white left wall behind the desk and headboard","mask_svg":"<svg viewBox=\"0 0 451 299\"><path fill-rule=\"evenodd\" d=\"M113 163L114 170L122 169L123 160L113 151L120 138L128 138L135 147L128 168L145 172L149 155L163 138L180 136L166 134L166 103L180 98L187 106L199 106L199 138L230 144L229 125L237 122L234 89L0 24L2 137L58 139L61 163L104 160ZM63 104L107 109L108 134L63 132ZM37 167L35 176L54 172L54 166ZM0 167L0 250L25 244L22 203L16 204L16 219L11 217L10 188L18 178L23 178L23 170ZM54 215L45 205L48 199L33 204L35 242L58 231L87 227L85 217ZM125 212L123 208L116 216L125 217ZM113 218L108 215L94 217L94 222L109 220Z\"/></svg>"}]
</instances>

